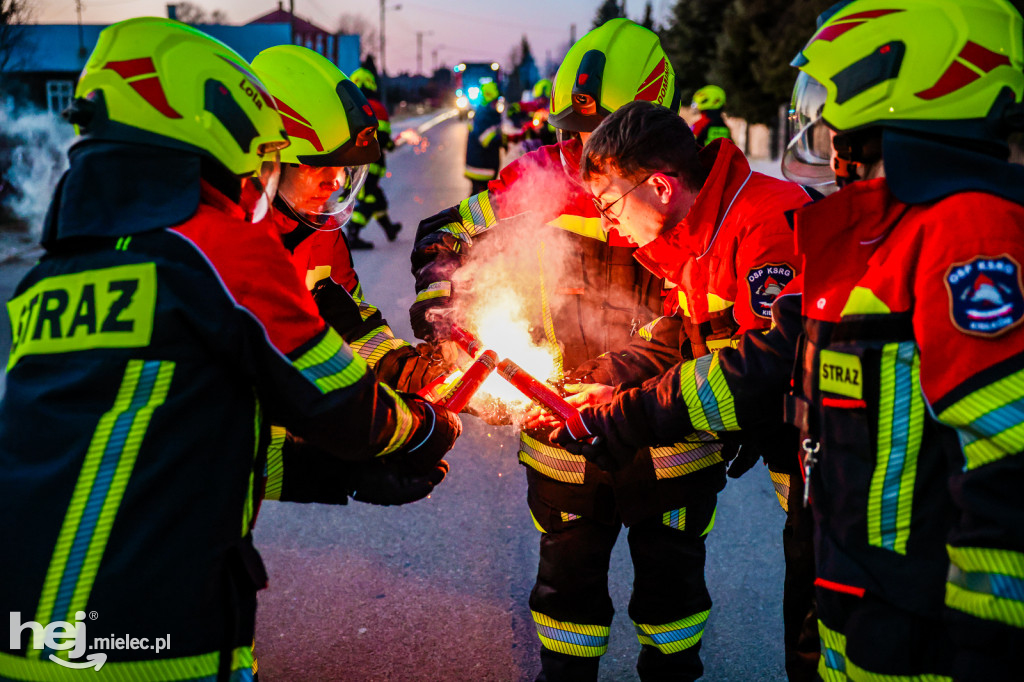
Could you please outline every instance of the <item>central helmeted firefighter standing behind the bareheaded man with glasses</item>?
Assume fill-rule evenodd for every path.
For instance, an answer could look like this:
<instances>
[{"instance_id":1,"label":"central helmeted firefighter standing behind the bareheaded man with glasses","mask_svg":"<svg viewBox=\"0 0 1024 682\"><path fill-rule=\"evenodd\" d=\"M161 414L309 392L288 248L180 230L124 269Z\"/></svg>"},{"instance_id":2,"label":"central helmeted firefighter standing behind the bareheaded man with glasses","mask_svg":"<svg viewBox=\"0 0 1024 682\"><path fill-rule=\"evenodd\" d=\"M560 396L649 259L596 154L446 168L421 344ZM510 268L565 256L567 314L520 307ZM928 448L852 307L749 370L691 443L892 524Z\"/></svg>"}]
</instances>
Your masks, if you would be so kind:
<instances>
[{"instance_id":1,"label":"central helmeted firefighter standing behind the bareheaded man with glasses","mask_svg":"<svg viewBox=\"0 0 1024 682\"><path fill-rule=\"evenodd\" d=\"M509 242L520 251L522 244L534 244L522 268L530 279L522 284L540 296L527 314L544 330L561 373L572 381L609 385L624 379L615 367L581 365L625 347L631 333L660 314L663 281L634 260L625 238L602 228L600 213L580 184L579 162L582 138L636 99L679 110L675 75L657 36L613 19L581 38L558 70L549 120L561 141L516 159L485 191L420 223L413 254L417 302L411 310L418 336L446 338L451 316L475 329L463 303L472 294L485 300L489 294L457 278L459 268L512 251L503 249ZM510 275L510 286L523 276ZM673 352L648 369L656 372L677 359ZM527 504L541 531L541 561L529 597L542 644L538 679L597 679L613 611L608 560L624 525L636 573L629 610L640 638L640 677L698 678L711 608L705 536L725 483L720 443L663 449L656 467L645 449L626 470L608 474L550 445L547 435L543 429L523 431L519 450ZM686 453L699 462L669 464L673 458L688 461Z\"/></svg>"}]
</instances>

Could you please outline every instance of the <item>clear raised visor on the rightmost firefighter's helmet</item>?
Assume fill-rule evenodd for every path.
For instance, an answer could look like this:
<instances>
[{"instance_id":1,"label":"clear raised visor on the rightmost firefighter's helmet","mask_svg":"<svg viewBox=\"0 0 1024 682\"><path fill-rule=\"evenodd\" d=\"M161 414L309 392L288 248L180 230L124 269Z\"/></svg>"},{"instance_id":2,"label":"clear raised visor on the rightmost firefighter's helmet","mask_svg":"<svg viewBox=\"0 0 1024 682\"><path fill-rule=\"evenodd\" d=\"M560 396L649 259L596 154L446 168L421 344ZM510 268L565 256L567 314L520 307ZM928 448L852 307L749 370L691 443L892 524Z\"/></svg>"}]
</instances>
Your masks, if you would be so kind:
<instances>
[{"instance_id":1,"label":"clear raised visor on the rightmost firefighter's helmet","mask_svg":"<svg viewBox=\"0 0 1024 682\"><path fill-rule=\"evenodd\" d=\"M786 121L790 143L782 157L782 174L794 182L819 186L836 181L831 167L834 132L821 118L826 97L823 85L800 73Z\"/></svg>"}]
</instances>

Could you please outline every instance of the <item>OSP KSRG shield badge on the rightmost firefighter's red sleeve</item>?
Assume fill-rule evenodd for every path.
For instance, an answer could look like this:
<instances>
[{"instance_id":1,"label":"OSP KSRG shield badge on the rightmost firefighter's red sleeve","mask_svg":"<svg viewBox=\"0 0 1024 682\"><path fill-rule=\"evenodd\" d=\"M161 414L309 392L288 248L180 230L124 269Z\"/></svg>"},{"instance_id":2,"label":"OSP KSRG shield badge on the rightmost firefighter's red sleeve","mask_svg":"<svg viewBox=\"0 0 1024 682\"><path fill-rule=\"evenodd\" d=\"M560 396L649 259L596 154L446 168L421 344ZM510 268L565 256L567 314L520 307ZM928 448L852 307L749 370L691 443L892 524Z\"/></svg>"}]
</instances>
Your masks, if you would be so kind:
<instances>
[{"instance_id":1,"label":"OSP KSRG shield badge on the rightmost firefighter's red sleeve","mask_svg":"<svg viewBox=\"0 0 1024 682\"><path fill-rule=\"evenodd\" d=\"M998 336L1024 317L1021 266L1007 254L978 256L946 270L949 317L975 336Z\"/></svg>"}]
</instances>

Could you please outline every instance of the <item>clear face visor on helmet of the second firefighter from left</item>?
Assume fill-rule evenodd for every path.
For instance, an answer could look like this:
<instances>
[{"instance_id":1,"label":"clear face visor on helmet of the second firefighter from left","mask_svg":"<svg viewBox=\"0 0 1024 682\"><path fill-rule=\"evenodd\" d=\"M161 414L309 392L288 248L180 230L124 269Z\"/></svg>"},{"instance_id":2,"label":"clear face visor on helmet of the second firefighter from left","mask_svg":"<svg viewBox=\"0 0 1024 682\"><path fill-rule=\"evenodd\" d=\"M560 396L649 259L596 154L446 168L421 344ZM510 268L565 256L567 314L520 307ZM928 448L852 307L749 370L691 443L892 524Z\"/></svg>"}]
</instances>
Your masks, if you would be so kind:
<instances>
[{"instance_id":1,"label":"clear face visor on helmet of the second firefighter from left","mask_svg":"<svg viewBox=\"0 0 1024 682\"><path fill-rule=\"evenodd\" d=\"M352 215L369 166L286 164L278 196L317 229L342 227Z\"/></svg>"}]
</instances>

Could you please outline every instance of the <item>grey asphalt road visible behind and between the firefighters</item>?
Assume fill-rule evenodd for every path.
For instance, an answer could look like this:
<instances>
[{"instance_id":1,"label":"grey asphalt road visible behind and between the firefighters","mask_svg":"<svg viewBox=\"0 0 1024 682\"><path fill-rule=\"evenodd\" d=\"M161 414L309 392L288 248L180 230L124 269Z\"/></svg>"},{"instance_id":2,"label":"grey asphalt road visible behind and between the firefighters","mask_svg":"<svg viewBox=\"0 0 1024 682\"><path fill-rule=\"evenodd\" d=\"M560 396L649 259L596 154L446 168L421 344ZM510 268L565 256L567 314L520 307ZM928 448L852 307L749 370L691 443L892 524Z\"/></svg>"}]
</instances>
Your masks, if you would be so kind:
<instances>
[{"instance_id":1,"label":"grey asphalt road visible behind and between the firefighters","mask_svg":"<svg viewBox=\"0 0 1024 682\"><path fill-rule=\"evenodd\" d=\"M356 254L369 300L406 338L413 233L421 218L468 193L465 137L465 126L451 120L426 133L427 144L389 157L384 187L392 217L406 228L388 244L372 225L365 235L378 248ZM0 264L3 300L29 266ZM2 357L9 334L4 316ZM539 644L526 598L539 535L525 505L517 439L511 427L473 417L463 423L449 478L426 500L404 507L263 505L255 534L270 574L256 636L263 682L534 679ZM763 467L730 480L720 497L708 541L715 607L703 636L707 680L784 679L783 520ZM631 581L623 539L612 557L617 614L602 682L637 679L638 644L626 614Z\"/></svg>"}]
</instances>

